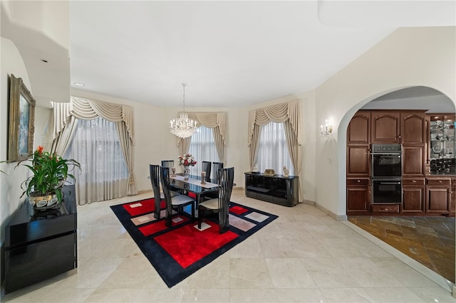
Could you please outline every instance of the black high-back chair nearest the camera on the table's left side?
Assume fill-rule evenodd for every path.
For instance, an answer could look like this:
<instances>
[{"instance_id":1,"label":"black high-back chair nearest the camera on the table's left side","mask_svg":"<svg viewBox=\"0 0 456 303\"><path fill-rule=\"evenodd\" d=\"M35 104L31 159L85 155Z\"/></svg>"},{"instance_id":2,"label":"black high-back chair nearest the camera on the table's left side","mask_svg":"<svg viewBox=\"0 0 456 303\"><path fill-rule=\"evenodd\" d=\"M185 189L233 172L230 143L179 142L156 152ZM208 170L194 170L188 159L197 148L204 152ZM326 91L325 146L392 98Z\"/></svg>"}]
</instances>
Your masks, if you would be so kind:
<instances>
[{"instance_id":1,"label":"black high-back chair nearest the camera on the table's left side","mask_svg":"<svg viewBox=\"0 0 456 303\"><path fill-rule=\"evenodd\" d=\"M172 209L177 208L179 213L183 213L184 207L190 205L192 207L192 220L195 220L195 200L187 195L171 196L170 193L170 170L167 167L160 166L160 182L162 183L163 196L166 201L166 216L165 225L172 225Z\"/></svg>"}]
</instances>

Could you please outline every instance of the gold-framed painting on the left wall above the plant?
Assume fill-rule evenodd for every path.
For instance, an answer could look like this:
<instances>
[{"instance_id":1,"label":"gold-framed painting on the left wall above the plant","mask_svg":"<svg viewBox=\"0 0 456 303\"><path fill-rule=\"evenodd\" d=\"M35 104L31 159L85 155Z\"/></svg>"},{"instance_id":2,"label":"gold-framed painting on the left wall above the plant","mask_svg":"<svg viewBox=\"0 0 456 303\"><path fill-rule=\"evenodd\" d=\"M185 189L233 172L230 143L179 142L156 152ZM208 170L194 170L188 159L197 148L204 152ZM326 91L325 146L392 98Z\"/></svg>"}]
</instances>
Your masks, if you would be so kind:
<instances>
[{"instance_id":1,"label":"gold-framed painting on the left wall above the plant","mask_svg":"<svg viewBox=\"0 0 456 303\"><path fill-rule=\"evenodd\" d=\"M22 78L9 80L8 161L27 159L33 152L36 100Z\"/></svg>"}]
</instances>

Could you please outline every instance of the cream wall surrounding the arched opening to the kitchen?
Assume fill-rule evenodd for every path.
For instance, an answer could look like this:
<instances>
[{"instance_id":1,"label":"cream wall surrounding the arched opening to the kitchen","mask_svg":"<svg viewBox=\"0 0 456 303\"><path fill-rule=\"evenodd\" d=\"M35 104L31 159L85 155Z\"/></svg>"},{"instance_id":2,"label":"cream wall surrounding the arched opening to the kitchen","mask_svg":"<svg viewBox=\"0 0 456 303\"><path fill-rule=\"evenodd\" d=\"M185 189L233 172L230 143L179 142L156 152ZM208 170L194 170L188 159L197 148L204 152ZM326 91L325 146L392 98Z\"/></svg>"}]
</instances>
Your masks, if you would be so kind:
<instances>
[{"instance_id":1,"label":"cream wall surrounding the arched opening to the kitchen","mask_svg":"<svg viewBox=\"0 0 456 303\"><path fill-rule=\"evenodd\" d=\"M333 139L317 140L316 203L346 213L346 129L353 113L400 88L432 87L456 100L455 27L400 28L316 89L316 117Z\"/></svg>"}]
</instances>

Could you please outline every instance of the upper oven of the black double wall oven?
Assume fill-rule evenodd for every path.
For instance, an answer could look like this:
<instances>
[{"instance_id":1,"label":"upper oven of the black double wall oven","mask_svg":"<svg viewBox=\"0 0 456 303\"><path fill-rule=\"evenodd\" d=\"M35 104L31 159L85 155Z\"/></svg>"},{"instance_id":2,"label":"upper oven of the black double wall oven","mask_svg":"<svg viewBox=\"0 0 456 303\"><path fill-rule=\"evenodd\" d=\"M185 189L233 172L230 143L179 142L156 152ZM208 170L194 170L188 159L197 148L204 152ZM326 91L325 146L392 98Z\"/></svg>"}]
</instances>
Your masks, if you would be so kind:
<instances>
[{"instance_id":1,"label":"upper oven of the black double wall oven","mask_svg":"<svg viewBox=\"0 0 456 303\"><path fill-rule=\"evenodd\" d=\"M372 144L372 178L400 178L402 176L402 146L400 144Z\"/></svg>"}]
</instances>

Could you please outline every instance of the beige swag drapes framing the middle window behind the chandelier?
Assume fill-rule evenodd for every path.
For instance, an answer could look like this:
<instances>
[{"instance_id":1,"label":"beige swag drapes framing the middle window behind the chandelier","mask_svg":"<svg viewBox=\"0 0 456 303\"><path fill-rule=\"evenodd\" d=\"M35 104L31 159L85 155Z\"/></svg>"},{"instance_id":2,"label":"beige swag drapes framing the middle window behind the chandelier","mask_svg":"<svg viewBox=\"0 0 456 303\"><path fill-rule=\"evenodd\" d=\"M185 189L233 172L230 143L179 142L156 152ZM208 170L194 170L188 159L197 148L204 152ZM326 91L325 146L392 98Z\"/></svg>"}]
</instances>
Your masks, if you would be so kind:
<instances>
[{"instance_id":1,"label":"beige swag drapes framing the middle window behind the chandelier","mask_svg":"<svg viewBox=\"0 0 456 303\"><path fill-rule=\"evenodd\" d=\"M212 128L214 133L215 147L220 161L224 162L225 154L225 129L226 113L224 112L187 112L190 119L194 119L198 124ZM182 154L187 154L190 149L190 140L192 137L179 139L177 146L181 147Z\"/></svg>"}]
</instances>

